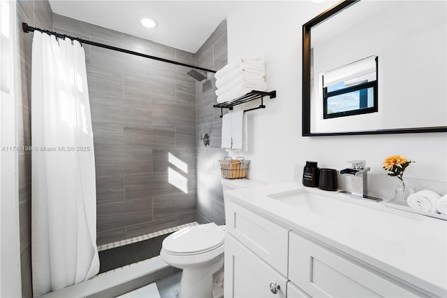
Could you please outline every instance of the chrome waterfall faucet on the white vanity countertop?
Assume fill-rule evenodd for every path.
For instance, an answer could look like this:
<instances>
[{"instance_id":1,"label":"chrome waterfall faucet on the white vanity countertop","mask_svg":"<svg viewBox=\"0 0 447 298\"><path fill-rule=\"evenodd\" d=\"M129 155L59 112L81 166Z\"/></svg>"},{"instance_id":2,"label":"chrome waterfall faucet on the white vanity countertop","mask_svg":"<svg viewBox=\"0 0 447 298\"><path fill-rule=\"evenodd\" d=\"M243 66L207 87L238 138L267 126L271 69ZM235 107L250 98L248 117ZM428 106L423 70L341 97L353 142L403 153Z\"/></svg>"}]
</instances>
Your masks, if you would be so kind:
<instances>
[{"instance_id":1,"label":"chrome waterfall faucet on the white vanity countertop","mask_svg":"<svg viewBox=\"0 0 447 298\"><path fill-rule=\"evenodd\" d=\"M382 199L368 196L368 171L371 169L366 166L366 160L356 159L351 160L352 166L350 168L340 171L342 175L351 175L351 192L344 193L351 194L362 199L370 199L372 201L382 201Z\"/></svg>"}]
</instances>

